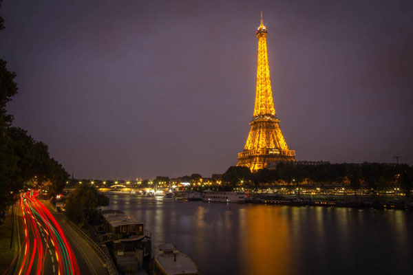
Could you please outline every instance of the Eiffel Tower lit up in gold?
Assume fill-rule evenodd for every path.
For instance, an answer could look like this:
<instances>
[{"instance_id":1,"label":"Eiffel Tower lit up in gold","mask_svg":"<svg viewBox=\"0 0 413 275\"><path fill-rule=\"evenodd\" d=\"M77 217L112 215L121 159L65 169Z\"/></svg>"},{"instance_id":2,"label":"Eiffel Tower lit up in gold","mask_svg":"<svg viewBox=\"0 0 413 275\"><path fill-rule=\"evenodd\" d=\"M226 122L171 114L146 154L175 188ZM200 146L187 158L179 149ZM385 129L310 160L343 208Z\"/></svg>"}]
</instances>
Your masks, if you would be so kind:
<instances>
[{"instance_id":1,"label":"Eiffel Tower lit up in gold","mask_svg":"<svg viewBox=\"0 0 413 275\"><path fill-rule=\"evenodd\" d=\"M268 30L262 23L261 12L261 24L257 29L258 62L254 116L250 122L251 130L244 151L238 153L237 163L237 166L247 166L251 170L264 168L269 162L295 161L295 151L288 149L275 114L268 67L267 35Z\"/></svg>"}]
</instances>

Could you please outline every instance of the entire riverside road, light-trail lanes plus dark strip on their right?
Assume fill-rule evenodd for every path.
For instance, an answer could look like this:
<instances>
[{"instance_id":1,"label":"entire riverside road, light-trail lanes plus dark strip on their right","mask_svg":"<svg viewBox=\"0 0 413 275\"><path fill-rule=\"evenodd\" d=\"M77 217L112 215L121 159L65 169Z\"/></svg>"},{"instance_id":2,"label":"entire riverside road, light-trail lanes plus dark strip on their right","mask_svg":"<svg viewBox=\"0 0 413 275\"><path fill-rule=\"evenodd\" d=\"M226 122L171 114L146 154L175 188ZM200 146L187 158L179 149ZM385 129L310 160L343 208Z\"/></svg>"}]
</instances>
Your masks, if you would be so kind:
<instances>
[{"instance_id":1,"label":"entire riverside road, light-trail lanes plus dark strip on their right","mask_svg":"<svg viewBox=\"0 0 413 275\"><path fill-rule=\"evenodd\" d=\"M21 194L15 223L15 241L20 249L3 275L108 274L85 237L37 195L34 190Z\"/></svg>"}]
</instances>

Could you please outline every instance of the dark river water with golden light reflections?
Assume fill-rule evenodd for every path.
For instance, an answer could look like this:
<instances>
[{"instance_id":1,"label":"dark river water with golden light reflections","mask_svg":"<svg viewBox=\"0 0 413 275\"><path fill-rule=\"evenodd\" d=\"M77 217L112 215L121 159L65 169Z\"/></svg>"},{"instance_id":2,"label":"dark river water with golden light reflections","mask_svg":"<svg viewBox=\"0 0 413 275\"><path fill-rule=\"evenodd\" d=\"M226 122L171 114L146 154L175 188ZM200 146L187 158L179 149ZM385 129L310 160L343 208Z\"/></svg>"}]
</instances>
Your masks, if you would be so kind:
<instances>
[{"instance_id":1,"label":"dark river water with golden light reflections","mask_svg":"<svg viewBox=\"0 0 413 275\"><path fill-rule=\"evenodd\" d=\"M202 274L413 274L413 212L109 195Z\"/></svg>"}]
</instances>

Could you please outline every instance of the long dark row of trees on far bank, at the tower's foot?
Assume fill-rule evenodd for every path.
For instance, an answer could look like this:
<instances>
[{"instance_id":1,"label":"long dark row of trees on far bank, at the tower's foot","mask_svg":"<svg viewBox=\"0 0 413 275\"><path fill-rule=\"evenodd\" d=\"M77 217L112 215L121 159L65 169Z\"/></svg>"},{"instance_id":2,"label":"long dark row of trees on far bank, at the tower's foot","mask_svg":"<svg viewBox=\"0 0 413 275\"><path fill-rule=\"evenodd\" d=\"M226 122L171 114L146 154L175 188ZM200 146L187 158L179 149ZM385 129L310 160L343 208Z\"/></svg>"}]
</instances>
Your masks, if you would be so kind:
<instances>
[{"instance_id":1,"label":"long dark row of trees on far bank, at the tower's foot","mask_svg":"<svg viewBox=\"0 0 413 275\"><path fill-rule=\"evenodd\" d=\"M222 175L222 183L230 186L257 186L262 184L349 184L357 190L363 184L377 191L392 184L402 184L403 190L413 190L413 168L407 164L320 164L303 165L279 163L274 170L266 168L253 173L240 166L231 166ZM410 189L409 189L410 188Z\"/></svg>"}]
</instances>

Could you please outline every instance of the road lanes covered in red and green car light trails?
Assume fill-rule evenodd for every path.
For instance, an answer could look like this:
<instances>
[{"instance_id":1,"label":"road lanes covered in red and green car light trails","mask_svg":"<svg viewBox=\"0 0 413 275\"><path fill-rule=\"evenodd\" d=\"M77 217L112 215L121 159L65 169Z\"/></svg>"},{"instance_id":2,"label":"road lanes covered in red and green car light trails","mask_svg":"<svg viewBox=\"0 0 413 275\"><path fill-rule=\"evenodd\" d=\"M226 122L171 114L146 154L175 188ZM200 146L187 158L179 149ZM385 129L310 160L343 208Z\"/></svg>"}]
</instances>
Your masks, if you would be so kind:
<instances>
[{"instance_id":1,"label":"road lanes covered in red and green car light trails","mask_svg":"<svg viewBox=\"0 0 413 275\"><path fill-rule=\"evenodd\" d=\"M17 223L21 249L14 274L81 274L76 256L59 223L37 198L36 191L21 194L22 222Z\"/></svg>"}]
</instances>

